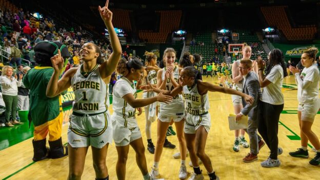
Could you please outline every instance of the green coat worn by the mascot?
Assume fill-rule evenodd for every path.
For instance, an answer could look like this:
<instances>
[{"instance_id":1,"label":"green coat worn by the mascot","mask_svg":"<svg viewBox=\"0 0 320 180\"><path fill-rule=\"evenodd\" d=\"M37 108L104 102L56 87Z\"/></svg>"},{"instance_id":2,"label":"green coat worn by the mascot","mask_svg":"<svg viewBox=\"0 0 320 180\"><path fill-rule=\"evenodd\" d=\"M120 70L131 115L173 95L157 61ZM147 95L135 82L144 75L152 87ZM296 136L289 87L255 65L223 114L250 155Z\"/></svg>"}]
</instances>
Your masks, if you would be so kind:
<instances>
[{"instance_id":1,"label":"green coat worn by the mascot","mask_svg":"<svg viewBox=\"0 0 320 180\"><path fill-rule=\"evenodd\" d=\"M46 95L52 74L52 67L36 66L23 78L24 85L30 89L29 121L32 121L35 127L53 120L62 112L60 95L52 98Z\"/></svg>"}]
</instances>

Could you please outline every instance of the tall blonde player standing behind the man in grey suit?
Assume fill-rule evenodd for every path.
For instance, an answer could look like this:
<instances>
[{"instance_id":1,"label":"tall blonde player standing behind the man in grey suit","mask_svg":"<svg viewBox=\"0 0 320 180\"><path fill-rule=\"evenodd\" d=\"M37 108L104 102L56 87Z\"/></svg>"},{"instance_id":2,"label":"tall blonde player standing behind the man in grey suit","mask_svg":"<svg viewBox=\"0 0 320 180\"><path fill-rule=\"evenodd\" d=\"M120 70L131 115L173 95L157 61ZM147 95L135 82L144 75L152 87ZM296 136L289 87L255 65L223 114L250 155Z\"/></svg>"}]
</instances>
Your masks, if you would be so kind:
<instances>
[{"instance_id":1,"label":"tall blonde player standing behind the man in grey suit","mask_svg":"<svg viewBox=\"0 0 320 180\"><path fill-rule=\"evenodd\" d=\"M250 59L251 57L251 47L244 44L244 47L242 48L242 59ZM242 59L238 59L232 64L232 89L242 92L243 88L243 75L239 74L239 64ZM252 61L252 60L251 60ZM258 66L256 65L255 61L252 61L252 70L258 74ZM240 96L237 95L231 95L232 98L232 104L234 108L234 114L240 113L240 111L243 109L242 100ZM240 134L240 137L239 137ZM240 149L239 145L242 145L244 148L248 148L248 142L245 139L245 130L234 130L234 144L233 144L233 150L235 152L238 152ZM258 141L259 141L259 148L262 148L262 146L265 145L264 141L261 140L261 137L258 135Z\"/></svg>"}]
</instances>

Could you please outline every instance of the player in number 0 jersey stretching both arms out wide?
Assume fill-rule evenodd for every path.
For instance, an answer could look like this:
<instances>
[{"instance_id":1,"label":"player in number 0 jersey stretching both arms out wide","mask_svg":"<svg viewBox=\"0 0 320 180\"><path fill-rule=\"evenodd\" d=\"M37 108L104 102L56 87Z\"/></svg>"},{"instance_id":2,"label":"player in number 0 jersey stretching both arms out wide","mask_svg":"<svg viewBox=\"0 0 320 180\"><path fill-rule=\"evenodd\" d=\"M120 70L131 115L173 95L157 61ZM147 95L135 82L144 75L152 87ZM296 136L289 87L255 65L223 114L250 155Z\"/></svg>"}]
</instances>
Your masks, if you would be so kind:
<instances>
[{"instance_id":1,"label":"player in number 0 jersey stretching both arms out wide","mask_svg":"<svg viewBox=\"0 0 320 180\"><path fill-rule=\"evenodd\" d=\"M173 97L182 91L184 94L185 110L187 112L184 132L187 148L189 150L190 159L194 169L194 173L189 180L204 178L199 168L197 157L202 160L210 179L218 179L213 171L210 158L205 153L207 136L211 126L210 114L208 113L209 102L207 93L208 91L218 91L227 94L236 94L242 96L248 103L252 103L253 98L233 89L223 88L203 82L196 78L197 73L198 71L193 66L183 68L179 78L180 85L175 87L172 91L164 93L170 94ZM155 89L151 86L146 87L146 89L152 88L155 92L160 91L159 89Z\"/></svg>"}]
</instances>

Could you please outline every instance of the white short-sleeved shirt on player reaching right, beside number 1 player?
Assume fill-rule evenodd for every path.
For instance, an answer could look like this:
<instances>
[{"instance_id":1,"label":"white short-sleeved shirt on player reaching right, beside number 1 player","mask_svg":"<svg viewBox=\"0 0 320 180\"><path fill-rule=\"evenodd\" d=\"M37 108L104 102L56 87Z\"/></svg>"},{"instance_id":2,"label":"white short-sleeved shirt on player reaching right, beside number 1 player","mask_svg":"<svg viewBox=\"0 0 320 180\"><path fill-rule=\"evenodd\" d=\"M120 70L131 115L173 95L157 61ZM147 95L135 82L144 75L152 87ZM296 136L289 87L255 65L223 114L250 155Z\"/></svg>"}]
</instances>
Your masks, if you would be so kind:
<instances>
[{"instance_id":1,"label":"white short-sleeved shirt on player reaching right, beside number 1 player","mask_svg":"<svg viewBox=\"0 0 320 180\"><path fill-rule=\"evenodd\" d=\"M136 98L135 85L130 82L126 77L121 77L113 86L113 119L116 119L118 123L124 127L137 127L135 121L135 108L130 106L124 98L124 95L131 93Z\"/></svg>"}]
</instances>

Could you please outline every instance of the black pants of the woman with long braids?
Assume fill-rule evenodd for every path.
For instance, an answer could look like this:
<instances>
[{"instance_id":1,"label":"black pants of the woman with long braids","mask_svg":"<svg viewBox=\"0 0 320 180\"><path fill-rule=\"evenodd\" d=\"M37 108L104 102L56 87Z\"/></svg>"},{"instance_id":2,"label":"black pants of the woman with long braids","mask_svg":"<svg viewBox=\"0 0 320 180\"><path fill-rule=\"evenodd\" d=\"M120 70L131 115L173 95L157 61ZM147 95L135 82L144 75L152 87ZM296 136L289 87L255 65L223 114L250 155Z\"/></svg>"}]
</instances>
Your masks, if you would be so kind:
<instances>
[{"instance_id":1,"label":"black pants of the woman with long braids","mask_svg":"<svg viewBox=\"0 0 320 180\"><path fill-rule=\"evenodd\" d=\"M258 105L258 131L271 151L271 159L278 158L278 123L283 108L283 104L259 102Z\"/></svg>"}]
</instances>

